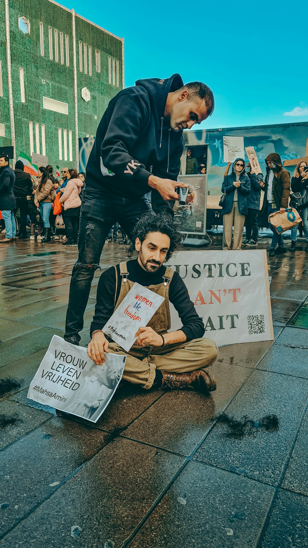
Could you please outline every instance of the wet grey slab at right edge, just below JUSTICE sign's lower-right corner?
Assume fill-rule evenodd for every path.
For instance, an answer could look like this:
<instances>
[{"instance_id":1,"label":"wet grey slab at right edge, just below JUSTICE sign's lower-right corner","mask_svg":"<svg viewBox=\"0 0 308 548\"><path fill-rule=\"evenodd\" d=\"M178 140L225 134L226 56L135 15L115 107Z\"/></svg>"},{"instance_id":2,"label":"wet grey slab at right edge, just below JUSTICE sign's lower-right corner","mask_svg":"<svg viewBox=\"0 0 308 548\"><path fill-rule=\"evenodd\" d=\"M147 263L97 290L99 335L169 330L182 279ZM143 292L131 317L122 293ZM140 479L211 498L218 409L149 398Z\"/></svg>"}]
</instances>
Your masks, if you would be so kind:
<instances>
[{"instance_id":1,"label":"wet grey slab at right edge, just below JUSTICE sign's lower-right corner","mask_svg":"<svg viewBox=\"0 0 308 548\"><path fill-rule=\"evenodd\" d=\"M280 345L274 344L258 363L258 369L308 379L308 349L287 346L282 349Z\"/></svg>"}]
</instances>

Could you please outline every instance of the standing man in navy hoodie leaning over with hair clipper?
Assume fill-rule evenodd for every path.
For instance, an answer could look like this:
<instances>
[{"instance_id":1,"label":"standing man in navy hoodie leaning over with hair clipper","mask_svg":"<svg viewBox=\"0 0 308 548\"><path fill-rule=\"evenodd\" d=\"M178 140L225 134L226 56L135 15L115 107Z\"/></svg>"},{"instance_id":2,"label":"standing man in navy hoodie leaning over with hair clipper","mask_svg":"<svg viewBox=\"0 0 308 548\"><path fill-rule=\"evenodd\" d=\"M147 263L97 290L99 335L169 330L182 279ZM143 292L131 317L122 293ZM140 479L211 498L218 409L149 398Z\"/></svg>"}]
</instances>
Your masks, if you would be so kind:
<instances>
[{"instance_id":1,"label":"standing man in navy hoodie leaning over with hair clipper","mask_svg":"<svg viewBox=\"0 0 308 548\"><path fill-rule=\"evenodd\" d=\"M202 122L213 110L211 89L202 82L183 85L178 74L138 80L109 102L86 166L79 256L66 315L69 343L79 344L91 281L109 229L118 221L130 238L136 221L150 209L144 196L150 189L153 210L173 216L175 187L185 186L177 182L183 129Z\"/></svg>"}]
</instances>

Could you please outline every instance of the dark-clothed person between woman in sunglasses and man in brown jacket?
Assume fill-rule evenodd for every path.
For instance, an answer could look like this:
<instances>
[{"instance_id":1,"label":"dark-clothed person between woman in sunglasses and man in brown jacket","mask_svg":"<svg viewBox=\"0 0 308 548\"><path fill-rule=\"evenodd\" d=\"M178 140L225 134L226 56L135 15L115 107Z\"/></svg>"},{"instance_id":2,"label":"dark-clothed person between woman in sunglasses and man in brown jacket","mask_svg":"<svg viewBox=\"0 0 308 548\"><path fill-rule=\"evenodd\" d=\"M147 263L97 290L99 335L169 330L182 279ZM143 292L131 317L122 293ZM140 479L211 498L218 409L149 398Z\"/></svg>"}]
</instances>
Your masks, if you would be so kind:
<instances>
[{"instance_id":1,"label":"dark-clothed person between woman in sunglasses and man in brown jacket","mask_svg":"<svg viewBox=\"0 0 308 548\"><path fill-rule=\"evenodd\" d=\"M261 188L264 187L263 174L256 174L250 163L247 164L246 173L250 179L251 188L247 196L246 238L243 239L243 246L257 247L259 236L258 213L260 210Z\"/></svg>"}]
</instances>

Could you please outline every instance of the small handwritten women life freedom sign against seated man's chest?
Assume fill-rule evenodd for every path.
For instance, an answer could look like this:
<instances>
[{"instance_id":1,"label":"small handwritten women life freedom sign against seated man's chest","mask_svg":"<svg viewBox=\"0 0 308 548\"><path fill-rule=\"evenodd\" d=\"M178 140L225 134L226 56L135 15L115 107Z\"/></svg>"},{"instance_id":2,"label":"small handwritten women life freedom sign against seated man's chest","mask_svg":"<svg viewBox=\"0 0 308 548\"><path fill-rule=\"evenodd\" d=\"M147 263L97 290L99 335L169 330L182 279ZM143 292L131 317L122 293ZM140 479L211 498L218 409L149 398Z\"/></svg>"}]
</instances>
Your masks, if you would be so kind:
<instances>
[{"instance_id":1,"label":"small handwritten women life freedom sign against seated man's chest","mask_svg":"<svg viewBox=\"0 0 308 548\"><path fill-rule=\"evenodd\" d=\"M102 332L128 352L136 342L138 329L147 326L164 300L165 297L134 283Z\"/></svg>"}]
</instances>

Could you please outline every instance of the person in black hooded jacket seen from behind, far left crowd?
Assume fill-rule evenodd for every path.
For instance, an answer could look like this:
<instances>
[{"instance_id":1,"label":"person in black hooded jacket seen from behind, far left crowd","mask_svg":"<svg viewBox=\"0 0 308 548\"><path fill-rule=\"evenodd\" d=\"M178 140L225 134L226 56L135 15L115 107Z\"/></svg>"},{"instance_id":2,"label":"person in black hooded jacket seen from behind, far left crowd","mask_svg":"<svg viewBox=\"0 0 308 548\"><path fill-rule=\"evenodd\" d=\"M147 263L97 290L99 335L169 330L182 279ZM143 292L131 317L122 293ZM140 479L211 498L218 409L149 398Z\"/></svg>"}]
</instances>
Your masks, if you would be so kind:
<instances>
[{"instance_id":1,"label":"person in black hooded jacket seen from behind, far left crowd","mask_svg":"<svg viewBox=\"0 0 308 548\"><path fill-rule=\"evenodd\" d=\"M27 238L27 214L29 210L29 200L32 194L32 180L30 174L24 171L25 164L18 160L15 163L15 185L14 195L16 199L16 208L20 210L19 238ZM15 213L17 211L15 209Z\"/></svg>"}]
</instances>

